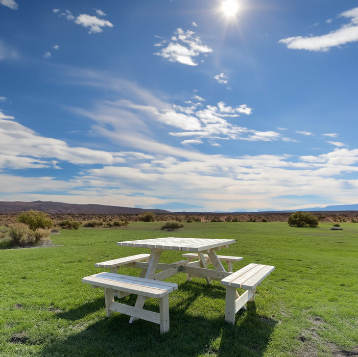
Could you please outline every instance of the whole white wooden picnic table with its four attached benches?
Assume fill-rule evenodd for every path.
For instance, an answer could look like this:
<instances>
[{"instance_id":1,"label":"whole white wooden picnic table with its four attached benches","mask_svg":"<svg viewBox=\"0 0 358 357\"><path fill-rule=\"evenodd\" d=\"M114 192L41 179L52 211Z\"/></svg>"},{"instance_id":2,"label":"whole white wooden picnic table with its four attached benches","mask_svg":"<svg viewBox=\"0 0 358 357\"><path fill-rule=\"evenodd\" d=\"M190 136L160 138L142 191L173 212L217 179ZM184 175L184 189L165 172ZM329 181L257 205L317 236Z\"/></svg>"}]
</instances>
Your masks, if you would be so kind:
<instances>
[{"instance_id":1,"label":"whole white wooden picnic table with its four attached benches","mask_svg":"<svg viewBox=\"0 0 358 357\"><path fill-rule=\"evenodd\" d=\"M151 252L96 263L97 267L110 268L110 273L103 272L87 276L82 279L82 282L105 289L107 316L110 316L112 311L117 311L130 315L130 323L138 318L152 321L160 324L160 331L164 333L169 330L168 295L176 290L178 285L162 282L163 279L185 272L188 280L191 277L204 278L207 284L211 284L212 279L221 281L226 288L225 320L234 323L235 313L242 308L246 309L245 303L254 299L256 286L275 268L268 265L249 264L233 273L226 271L222 261L230 263L229 270L231 270L232 262L243 259L242 257L218 256L218 250L232 243L235 243L234 239L176 237L117 242L117 245L122 247L149 248ZM181 251L182 256L187 259L173 263L159 263L164 250ZM194 260L193 254L197 254L197 260ZM208 262L213 265L213 269L208 268ZM140 268L140 275L132 277L116 274L119 266ZM158 270L159 272L156 273ZM247 291L240 296L236 288ZM137 294L134 307L115 302L115 293L118 298L131 293ZM159 314L143 309L149 297L159 298Z\"/></svg>"}]
</instances>

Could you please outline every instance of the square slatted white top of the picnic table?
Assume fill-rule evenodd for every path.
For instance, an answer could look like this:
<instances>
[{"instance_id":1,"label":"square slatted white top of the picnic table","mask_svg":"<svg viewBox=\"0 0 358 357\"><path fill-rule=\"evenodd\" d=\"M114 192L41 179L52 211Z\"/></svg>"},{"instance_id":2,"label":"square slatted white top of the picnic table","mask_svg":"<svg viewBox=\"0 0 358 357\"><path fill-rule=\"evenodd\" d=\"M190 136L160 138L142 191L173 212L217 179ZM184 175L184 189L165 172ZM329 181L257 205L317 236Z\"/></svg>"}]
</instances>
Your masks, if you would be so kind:
<instances>
[{"instance_id":1,"label":"square slatted white top of the picnic table","mask_svg":"<svg viewBox=\"0 0 358 357\"><path fill-rule=\"evenodd\" d=\"M154 238L135 241L117 242L122 247L151 248L162 250L204 251L235 243L235 239L204 239L204 238Z\"/></svg>"}]
</instances>

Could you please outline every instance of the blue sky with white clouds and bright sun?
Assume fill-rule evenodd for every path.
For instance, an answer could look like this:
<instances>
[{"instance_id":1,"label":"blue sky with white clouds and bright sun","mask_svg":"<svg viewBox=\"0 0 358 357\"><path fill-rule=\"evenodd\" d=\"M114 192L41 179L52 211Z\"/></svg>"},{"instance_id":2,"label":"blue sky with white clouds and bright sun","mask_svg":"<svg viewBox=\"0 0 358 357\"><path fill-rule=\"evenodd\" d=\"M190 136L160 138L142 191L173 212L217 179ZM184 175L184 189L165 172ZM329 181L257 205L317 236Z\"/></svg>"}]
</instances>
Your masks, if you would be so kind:
<instances>
[{"instance_id":1,"label":"blue sky with white clouds and bright sun","mask_svg":"<svg viewBox=\"0 0 358 357\"><path fill-rule=\"evenodd\" d=\"M358 203L357 0L0 0L0 200Z\"/></svg>"}]
</instances>

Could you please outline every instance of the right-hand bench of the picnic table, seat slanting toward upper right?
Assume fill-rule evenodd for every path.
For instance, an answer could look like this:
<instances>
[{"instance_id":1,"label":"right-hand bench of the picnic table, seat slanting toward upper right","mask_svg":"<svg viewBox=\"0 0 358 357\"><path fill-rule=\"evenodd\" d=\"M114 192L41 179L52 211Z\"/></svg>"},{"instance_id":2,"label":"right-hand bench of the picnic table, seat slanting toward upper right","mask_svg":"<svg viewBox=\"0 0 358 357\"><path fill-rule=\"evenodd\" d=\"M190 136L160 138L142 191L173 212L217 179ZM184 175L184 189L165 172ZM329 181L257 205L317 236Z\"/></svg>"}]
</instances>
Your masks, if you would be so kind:
<instances>
[{"instance_id":1,"label":"right-hand bench of the picnic table, seat slanting toward upper right","mask_svg":"<svg viewBox=\"0 0 358 357\"><path fill-rule=\"evenodd\" d=\"M225 321L235 323L237 311L242 309L248 301L254 301L256 286L274 270L275 267L272 265L251 263L221 280L221 284L226 288ZM237 297L236 288L246 291Z\"/></svg>"}]
</instances>

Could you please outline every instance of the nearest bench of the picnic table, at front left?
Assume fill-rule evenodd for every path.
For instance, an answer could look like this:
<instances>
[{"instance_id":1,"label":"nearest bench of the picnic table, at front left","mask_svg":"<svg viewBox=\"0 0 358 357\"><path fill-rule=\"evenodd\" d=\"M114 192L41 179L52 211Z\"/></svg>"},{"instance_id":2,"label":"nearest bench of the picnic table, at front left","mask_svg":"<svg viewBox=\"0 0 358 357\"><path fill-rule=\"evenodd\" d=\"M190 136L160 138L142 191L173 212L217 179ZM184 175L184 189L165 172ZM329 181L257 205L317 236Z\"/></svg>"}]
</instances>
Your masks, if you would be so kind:
<instances>
[{"instance_id":1,"label":"nearest bench of the picnic table, at front left","mask_svg":"<svg viewBox=\"0 0 358 357\"><path fill-rule=\"evenodd\" d=\"M82 278L82 283L104 288L108 317L116 311L159 324L161 334L169 331L169 293L178 289L178 284L106 272L86 276ZM144 300L150 297L159 299L159 313L116 302L115 291L136 294Z\"/></svg>"}]
</instances>

